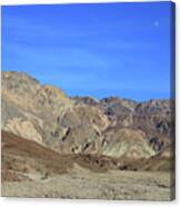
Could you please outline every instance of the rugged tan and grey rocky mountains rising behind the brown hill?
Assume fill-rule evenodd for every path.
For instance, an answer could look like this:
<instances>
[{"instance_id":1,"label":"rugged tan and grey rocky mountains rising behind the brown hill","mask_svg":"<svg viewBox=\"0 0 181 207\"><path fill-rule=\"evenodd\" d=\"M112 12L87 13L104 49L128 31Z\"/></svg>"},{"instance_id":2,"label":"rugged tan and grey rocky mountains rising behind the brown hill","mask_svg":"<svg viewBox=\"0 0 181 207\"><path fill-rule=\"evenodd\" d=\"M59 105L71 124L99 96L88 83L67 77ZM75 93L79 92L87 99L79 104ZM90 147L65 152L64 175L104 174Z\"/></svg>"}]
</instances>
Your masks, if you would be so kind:
<instances>
[{"instance_id":1,"label":"rugged tan and grey rocky mountains rising behind the brown hill","mask_svg":"<svg viewBox=\"0 0 181 207\"><path fill-rule=\"evenodd\" d=\"M150 158L173 140L169 100L68 97L23 72L2 72L2 129L61 154Z\"/></svg>"}]
</instances>

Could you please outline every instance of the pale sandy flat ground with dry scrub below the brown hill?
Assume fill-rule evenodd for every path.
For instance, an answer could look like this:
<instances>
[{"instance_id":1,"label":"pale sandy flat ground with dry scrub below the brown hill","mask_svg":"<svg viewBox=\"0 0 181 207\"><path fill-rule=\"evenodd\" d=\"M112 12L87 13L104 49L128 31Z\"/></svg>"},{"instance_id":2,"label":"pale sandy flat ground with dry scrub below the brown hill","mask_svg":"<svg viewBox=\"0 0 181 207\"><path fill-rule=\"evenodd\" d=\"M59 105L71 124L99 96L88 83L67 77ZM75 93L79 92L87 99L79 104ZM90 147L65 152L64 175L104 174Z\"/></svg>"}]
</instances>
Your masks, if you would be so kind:
<instances>
[{"instance_id":1,"label":"pale sandy flat ground with dry scrub below the brown hill","mask_svg":"<svg viewBox=\"0 0 181 207\"><path fill-rule=\"evenodd\" d=\"M33 181L4 181L2 196L80 199L170 200L170 174L148 171L93 172L74 165L68 174L47 178L29 175ZM36 179L37 178L37 179Z\"/></svg>"}]
</instances>

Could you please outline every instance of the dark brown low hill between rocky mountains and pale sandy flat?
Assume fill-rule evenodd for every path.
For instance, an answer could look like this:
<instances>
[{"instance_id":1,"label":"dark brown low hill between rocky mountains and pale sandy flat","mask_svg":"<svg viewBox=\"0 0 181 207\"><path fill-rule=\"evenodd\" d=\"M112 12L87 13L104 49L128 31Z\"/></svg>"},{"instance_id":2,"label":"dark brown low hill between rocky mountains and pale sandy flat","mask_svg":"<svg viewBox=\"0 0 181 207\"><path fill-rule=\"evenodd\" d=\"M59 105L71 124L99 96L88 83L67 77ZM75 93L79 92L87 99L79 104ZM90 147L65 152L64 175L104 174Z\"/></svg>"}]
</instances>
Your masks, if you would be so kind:
<instances>
[{"instance_id":1,"label":"dark brown low hill between rocky mountains and pale sandy flat","mask_svg":"<svg viewBox=\"0 0 181 207\"><path fill-rule=\"evenodd\" d=\"M167 149L168 150L168 149ZM95 155L62 155L36 141L2 131L2 181L39 180L70 172L74 164L93 170L149 170L168 171L172 162L168 156L149 159L114 159Z\"/></svg>"}]
</instances>

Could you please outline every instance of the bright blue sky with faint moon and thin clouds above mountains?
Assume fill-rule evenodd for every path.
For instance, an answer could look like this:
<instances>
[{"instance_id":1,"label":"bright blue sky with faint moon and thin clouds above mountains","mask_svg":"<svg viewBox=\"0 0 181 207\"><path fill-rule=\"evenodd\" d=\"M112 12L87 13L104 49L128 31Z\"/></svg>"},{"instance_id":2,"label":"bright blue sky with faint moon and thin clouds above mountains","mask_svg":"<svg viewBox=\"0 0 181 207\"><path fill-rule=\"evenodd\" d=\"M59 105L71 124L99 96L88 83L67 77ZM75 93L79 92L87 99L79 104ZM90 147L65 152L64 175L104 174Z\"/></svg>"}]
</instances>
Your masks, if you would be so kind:
<instances>
[{"instance_id":1,"label":"bright blue sky with faint moon and thin clouds above mountains","mask_svg":"<svg viewBox=\"0 0 181 207\"><path fill-rule=\"evenodd\" d=\"M170 2L2 7L2 70L70 96L170 97Z\"/></svg>"}]
</instances>

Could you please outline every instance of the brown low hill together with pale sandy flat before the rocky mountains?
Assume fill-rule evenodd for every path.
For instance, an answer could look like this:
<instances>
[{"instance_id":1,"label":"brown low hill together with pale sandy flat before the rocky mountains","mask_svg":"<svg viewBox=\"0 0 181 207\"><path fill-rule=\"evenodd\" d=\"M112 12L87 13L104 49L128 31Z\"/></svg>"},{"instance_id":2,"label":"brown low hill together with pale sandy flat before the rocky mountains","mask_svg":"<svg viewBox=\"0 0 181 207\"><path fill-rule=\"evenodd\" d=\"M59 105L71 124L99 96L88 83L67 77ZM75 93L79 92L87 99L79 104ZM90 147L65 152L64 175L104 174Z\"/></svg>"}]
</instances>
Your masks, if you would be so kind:
<instances>
[{"instance_id":1,"label":"brown low hill together with pale sandy flat before the rocky mountains","mask_svg":"<svg viewBox=\"0 0 181 207\"><path fill-rule=\"evenodd\" d=\"M110 157L59 155L4 131L2 147L2 196L143 200L174 197L174 177L167 158L133 165Z\"/></svg>"}]
</instances>

